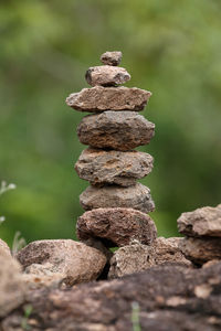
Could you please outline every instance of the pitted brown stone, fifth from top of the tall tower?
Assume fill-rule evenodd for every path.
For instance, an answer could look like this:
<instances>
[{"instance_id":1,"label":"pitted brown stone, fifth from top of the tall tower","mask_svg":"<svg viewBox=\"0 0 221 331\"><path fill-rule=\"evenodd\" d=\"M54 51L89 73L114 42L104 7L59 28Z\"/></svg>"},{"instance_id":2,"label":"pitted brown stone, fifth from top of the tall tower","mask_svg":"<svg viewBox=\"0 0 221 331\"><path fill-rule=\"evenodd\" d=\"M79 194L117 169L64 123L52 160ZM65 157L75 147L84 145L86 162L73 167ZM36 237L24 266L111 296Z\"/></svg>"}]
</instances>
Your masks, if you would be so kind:
<instances>
[{"instance_id":1,"label":"pitted brown stone, fifth from top of the tall tower","mask_svg":"<svg viewBox=\"0 0 221 331\"><path fill-rule=\"evenodd\" d=\"M80 156L75 170L81 179L93 185L130 186L151 171L152 162L150 154L135 150L123 152L87 148Z\"/></svg>"}]
</instances>

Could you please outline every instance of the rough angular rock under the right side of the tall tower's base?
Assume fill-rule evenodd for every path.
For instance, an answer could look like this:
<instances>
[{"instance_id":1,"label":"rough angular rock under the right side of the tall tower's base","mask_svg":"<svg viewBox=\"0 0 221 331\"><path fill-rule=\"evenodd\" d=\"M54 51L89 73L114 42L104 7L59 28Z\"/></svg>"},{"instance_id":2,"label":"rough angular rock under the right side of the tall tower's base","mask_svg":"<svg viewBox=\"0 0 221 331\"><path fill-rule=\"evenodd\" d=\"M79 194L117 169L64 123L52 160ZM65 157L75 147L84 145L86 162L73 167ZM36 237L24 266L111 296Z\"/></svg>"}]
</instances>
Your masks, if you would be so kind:
<instances>
[{"instance_id":1,"label":"rough angular rock under the right side of the tall tower's base","mask_svg":"<svg viewBox=\"0 0 221 331\"><path fill-rule=\"evenodd\" d=\"M190 267L191 263L185 258L178 247L180 239L158 237L150 246L135 241L128 246L120 247L110 259L108 278L123 277L165 263Z\"/></svg>"}]
</instances>

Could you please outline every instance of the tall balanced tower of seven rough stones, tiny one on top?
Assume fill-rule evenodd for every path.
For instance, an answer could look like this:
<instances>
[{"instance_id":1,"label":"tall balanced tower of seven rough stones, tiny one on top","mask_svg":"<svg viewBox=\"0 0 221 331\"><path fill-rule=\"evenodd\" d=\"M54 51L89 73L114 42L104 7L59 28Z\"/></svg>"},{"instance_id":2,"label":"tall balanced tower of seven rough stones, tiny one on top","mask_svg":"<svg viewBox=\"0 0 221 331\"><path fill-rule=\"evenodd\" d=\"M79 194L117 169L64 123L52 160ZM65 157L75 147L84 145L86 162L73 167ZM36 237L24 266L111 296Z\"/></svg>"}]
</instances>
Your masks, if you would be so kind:
<instances>
[{"instance_id":1,"label":"tall balanced tower of seven rough stones, tiny one on top","mask_svg":"<svg viewBox=\"0 0 221 331\"><path fill-rule=\"evenodd\" d=\"M151 93L118 86L130 79L117 66L120 60L120 52L104 53L103 65L86 72L92 87L66 98L75 110L93 113L77 128L80 141L88 148L75 170L91 184L80 196L86 212L77 220L77 236L83 242L99 239L106 247L123 247L133 241L150 245L157 235L147 215L155 209L150 190L137 182L151 171L154 160L133 150L148 145L155 134L155 125L138 114Z\"/></svg>"}]
</instances>

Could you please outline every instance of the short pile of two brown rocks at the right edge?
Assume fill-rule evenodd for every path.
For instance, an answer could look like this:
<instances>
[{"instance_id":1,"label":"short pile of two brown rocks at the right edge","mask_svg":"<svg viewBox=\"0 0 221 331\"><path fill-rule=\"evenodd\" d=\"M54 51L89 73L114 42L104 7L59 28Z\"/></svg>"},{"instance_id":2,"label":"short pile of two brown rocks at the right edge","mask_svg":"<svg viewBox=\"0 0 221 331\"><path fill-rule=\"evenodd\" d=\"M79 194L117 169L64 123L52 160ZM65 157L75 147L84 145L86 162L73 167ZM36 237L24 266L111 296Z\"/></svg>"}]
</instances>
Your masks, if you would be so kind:
<instances>
[{"instance_id":1,"label":"short pile of two brown rocks at the right edge","mask_svg":"<svg viewBox=\"0 0 221 331\"><path fill-rule=\"evenodd\" d=\"M221 204L182 213L178 229L186 235L180 249L192 263L203 265L221 259Z\"/></svg>"}]
</instances>

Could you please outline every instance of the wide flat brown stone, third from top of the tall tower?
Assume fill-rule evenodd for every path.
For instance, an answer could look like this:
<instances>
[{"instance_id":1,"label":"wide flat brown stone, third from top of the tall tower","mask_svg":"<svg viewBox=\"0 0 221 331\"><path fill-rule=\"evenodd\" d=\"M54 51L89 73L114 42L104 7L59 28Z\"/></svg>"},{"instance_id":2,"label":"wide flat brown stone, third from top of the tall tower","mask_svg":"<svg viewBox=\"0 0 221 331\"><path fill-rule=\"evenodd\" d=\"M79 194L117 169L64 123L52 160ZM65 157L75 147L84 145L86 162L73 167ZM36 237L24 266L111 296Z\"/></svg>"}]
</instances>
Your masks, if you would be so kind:
<instances>
[{"instance_id":1,"label":"wide flat brown stone, third from top of the tall tower","mask_svg":"<svg viewBox=\"0 0 221 331\"><path fill-rule=\"evenodd\" d=\"M103 87L83 88L66 98L67 106L88 113L105 110L143 110L151 93L137 87Z\"/></svg>"}]
</instances>

